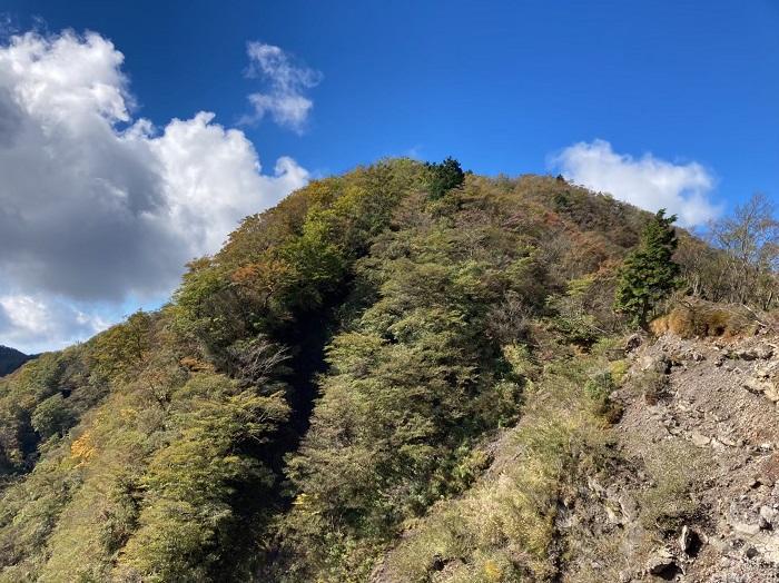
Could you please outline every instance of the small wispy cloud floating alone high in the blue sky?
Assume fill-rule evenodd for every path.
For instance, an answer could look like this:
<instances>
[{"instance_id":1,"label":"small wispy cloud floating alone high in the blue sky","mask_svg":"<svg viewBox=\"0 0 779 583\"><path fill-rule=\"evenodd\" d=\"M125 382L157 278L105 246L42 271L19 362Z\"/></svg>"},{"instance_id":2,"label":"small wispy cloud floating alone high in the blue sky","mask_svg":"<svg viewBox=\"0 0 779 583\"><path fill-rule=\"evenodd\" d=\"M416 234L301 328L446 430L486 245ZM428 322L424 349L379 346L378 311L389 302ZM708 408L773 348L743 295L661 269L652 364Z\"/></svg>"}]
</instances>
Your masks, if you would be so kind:
<instances>
[{"instance_id":1,"label":"small wispy cloud floating alone high in the blue sky","mask_svg":"<svg viewBox=\"0 0 779 583\"><path fill-rule=\"evenodd\" d=\"M319 85L322 73L306 66L295 65L289 55L273 45L249 42L247 53L250 60L247 76L263 79L268 89L249 96L254 113L244 121L257 122L269 115L279 126L297 132L303 131L308 113L314 107L314 102L305 93Z\"/></svg>"}]
</instances>

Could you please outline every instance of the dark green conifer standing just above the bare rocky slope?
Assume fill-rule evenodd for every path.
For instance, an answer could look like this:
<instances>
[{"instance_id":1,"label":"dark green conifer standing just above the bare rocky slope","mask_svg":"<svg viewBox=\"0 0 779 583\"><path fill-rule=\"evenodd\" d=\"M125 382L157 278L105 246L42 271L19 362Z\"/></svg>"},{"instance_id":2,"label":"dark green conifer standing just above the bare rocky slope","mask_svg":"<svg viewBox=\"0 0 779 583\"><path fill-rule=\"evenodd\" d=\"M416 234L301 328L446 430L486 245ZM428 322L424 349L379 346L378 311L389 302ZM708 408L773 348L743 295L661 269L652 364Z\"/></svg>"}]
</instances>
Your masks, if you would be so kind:
<instances>
[{"instance_id":1,"label":"dark green conifer standing just above the bare rocky slope","mask_svg":"<svg viewBox=\"0 0 779 583\"><path fill-rule=\"evenodd\" d=\"M614 309L630 317L633 326L647 327L657 304L679 285L679 265L673 261L676 215L660 209L644 227L639 246L624 260L614 298Z\"/></svg>"}]
</instances>

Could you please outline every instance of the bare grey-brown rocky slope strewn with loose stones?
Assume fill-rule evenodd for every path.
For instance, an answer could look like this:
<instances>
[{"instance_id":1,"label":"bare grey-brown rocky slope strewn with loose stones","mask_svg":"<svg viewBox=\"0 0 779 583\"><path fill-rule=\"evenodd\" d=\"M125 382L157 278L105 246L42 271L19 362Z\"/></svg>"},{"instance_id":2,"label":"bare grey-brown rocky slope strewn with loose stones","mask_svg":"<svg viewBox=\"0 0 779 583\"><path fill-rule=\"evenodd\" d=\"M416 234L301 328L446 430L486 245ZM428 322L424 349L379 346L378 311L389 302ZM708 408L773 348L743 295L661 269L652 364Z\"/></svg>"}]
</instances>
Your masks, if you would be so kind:
<instances>
[{"instance_id":1,"label":"bare grey-brown rocky slope strewn with loose stones","mask_svg":"<svg viewBox=\"0 0 779 583\"><path fill-rule=\"evenodd\" d=\"M676 532L661 530L664 544L645 561L628 561L621 580L654 574L686 582L779 581L779 338L687 340L667 334L631 358L633 381L614 395L624 404L614 427L620 454L638 468L658 452L670 454L658 475L648 480L639 471L627 484L599 492L613 508L608 520L625 533L628 549L634 542L635 551L645 551L641 518L659 508L641 507L637 498L681 476L687 484L679 494L689 501L677 501L688 512L679 513ZM638 394L648 374L660 375L649 387L653 393Z\"/></svg>"}]
</instances>

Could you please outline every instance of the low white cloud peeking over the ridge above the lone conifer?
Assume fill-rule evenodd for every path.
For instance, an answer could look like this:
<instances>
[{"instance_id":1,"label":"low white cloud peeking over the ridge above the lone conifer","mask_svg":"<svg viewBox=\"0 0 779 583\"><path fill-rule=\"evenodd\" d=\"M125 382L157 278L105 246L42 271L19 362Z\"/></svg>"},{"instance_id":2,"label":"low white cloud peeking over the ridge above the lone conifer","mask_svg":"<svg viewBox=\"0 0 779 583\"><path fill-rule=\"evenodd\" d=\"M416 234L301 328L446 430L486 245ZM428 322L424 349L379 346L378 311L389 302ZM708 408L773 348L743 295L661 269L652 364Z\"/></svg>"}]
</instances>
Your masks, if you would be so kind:
<instances>
[{"instance_id":1,"label":"low white cloud peeking over the ridge above the lone conifer","mask_svg":"<svg viewBox=\"0 0 779 583\"><path fill-rule=\"evenodd\" d=\"M720 213L710 199L714 178L698 162L673 164L651 154L633 158L615 152L608 141L594 140L569 146L550 165L592 190L647 210L665 208L683 226L704 224Z\"/></svg>"}]
</instances>

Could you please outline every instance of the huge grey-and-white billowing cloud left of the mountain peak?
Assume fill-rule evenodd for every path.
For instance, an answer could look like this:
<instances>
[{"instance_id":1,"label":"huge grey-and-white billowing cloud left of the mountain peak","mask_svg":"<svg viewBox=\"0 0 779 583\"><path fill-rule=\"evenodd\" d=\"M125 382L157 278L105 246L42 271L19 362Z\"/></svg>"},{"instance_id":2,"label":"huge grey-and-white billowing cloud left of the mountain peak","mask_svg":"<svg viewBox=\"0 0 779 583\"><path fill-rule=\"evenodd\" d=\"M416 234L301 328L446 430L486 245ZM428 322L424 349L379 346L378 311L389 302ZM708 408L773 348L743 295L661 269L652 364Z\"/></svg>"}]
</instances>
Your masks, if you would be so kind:
<instances>
[{"instance_id":1,"label":"huge grey-and-white billowing cloud left of the mountain peak","mask_svg":"<svg viewBox=\"0 0 779 583\"><path fill-rule=\"evenodd\" d=\"M134 119L122 60L97 33L0 46L0 344L105 326L76 303L169 294L186 261L307 180L286 157L264 174L214 113Z\"/></svg>"}]
</instances>

